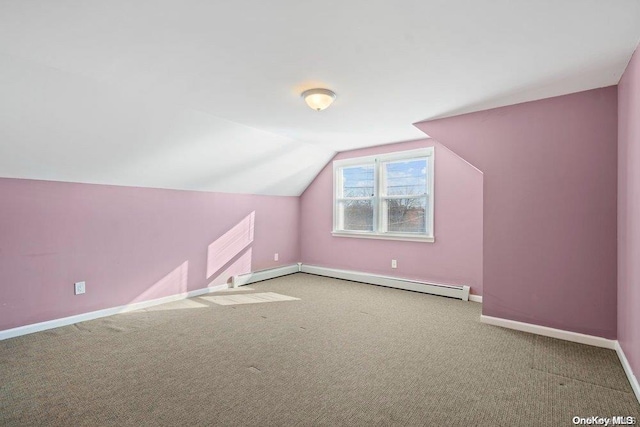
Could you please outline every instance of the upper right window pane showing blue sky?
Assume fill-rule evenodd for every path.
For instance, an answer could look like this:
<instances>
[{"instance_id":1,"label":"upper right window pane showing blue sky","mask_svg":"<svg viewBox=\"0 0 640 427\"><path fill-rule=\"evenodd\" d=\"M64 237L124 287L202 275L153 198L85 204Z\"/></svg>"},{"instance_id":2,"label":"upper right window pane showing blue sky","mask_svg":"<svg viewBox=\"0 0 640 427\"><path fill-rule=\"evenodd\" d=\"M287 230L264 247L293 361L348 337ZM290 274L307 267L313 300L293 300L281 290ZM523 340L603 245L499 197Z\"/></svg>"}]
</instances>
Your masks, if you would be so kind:
<instances>
[{"instance_id":1,"label":"upper right window pane showing blue sky","mask_svg":"<svg viewBox=\"0 0 640 427\"><path fill-rule=\"evenodd\" d=\"M412 159L384 164L385 192L389 196L427 193L427 160Z\"/></svg>"}]
</instances>

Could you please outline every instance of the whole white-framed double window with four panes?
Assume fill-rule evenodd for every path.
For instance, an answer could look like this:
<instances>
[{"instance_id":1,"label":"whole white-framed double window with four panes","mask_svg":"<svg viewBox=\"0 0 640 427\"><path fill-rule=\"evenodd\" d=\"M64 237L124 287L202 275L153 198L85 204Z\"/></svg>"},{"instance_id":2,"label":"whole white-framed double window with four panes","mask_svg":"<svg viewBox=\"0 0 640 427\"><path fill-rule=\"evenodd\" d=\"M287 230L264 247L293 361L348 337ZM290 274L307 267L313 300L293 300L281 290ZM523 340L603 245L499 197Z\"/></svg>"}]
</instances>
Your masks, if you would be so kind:
<instances>
[{"instance_id":1,"label":"whole white-framed double window with four panes","mask_svg":"<svg viewBox=\"0 0 640 427\"><path fill-rule=\"evenodd\" d=\"M333 162L333 235L434 241L433 147Z\"/></svg>"}]
</instances>

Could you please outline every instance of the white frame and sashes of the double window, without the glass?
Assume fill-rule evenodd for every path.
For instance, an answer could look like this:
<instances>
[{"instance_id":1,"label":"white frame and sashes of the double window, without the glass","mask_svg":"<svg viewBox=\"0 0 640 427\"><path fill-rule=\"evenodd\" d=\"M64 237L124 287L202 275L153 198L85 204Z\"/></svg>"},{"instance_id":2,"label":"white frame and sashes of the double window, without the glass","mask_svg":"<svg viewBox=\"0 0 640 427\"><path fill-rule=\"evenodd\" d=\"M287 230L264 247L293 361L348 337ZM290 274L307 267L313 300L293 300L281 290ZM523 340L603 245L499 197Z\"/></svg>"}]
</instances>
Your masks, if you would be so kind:
<instances>
[{"instance_id":1,"label":"white frame and sashes of the double window, without the glass","mask_svg":"<svg viewBox=\"0 0 640 427\"><path fill-rule=\"evenodd\" d=\"M428 216L426 220L426 233L411 233L411 232L389 232L384 231L386 223L384 222L387 212L383 208L383 200L391 198L411 198L411 197L425 197L419 196L387 196L384 193L384 180L382 174L384 173L385 162L389 161L403 161L411 159L426 159L427 160L427 201L428 201ZM342 192L342 168L353 166L372 166L373 180L374 180L374 195L372 197L359 197L358 199L372 200L373 204L373 231L351 231L341 230L342 225L340 222L343 220L339 211L339 201L344 200L341 197ZM380 154L375 156L366 157L353 157L350 159L336 160L333 162L333 230L331 234L335 237L356 237L365 239L388 239L388 240L408 240L417 242L435 242L434 233L434 165L435 165L435 150L434 147L420 148L417 150L398 151L394 153ZM350 198L353 199L353 198Z\"/></svg>"}]
</instances>

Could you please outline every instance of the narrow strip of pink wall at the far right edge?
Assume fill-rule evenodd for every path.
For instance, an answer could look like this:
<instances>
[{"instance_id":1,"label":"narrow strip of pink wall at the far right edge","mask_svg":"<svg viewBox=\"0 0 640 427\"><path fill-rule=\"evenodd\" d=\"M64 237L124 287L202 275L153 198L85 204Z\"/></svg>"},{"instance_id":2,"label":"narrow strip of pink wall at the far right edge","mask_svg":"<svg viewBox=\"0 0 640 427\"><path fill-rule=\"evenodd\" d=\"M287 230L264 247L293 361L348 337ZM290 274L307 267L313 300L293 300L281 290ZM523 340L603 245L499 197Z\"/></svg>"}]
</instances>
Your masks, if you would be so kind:
<instances>
[{"instance_id":1,"label":"narrow strip of pink wall at the far right edge","mask_svg":"<svg viewBox=\"0 0 640 427\"><path fill-rule=\"evenodd\" d=\"M618 341L640 374L640 49L618 84Z\"/></svg>"}]
</instances>

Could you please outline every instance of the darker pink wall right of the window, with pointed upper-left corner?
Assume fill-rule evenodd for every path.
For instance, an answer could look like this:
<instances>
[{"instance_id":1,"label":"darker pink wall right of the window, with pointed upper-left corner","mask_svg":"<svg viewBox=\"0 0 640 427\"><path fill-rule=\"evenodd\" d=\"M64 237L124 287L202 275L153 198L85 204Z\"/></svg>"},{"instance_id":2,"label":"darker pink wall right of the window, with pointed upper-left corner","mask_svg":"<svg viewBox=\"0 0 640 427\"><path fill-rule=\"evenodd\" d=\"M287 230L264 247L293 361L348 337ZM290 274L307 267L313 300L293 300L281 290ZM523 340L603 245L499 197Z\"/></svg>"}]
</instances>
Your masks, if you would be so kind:
<instances>
[{"instance_id":1,"label":"darker pink wall right of the window, with pointed upper-left corner","mask_svg":"<svg viewBox=\"0 0 640 427\"><path fill-rule=\"evenodd\" d=\"M616 337L616 87L416 125L484 172L483 313Z\"/></svg>"}]
</instances>

